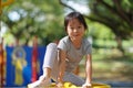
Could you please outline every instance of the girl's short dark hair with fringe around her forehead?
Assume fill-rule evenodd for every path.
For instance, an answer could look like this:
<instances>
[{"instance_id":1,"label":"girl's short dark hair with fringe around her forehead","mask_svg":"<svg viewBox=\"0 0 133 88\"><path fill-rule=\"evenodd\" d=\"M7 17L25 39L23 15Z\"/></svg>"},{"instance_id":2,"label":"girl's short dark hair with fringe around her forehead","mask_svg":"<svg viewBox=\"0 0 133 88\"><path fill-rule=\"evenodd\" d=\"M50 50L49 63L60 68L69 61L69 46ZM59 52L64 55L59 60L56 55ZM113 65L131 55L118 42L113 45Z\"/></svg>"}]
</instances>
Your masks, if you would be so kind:
<instances>
[{"instance_id":1,"label":"girl's short dark hair with fringe around her forehead","mask_svg":"<svg viewBox=\"0 0 133 88\"><path fill-rule=\"evenodd\" d=\"M78 19L84 25L84 29L85 30L88 29L88 25L85 23L85 20L83 18L83 15L80 12L71 12L64 18L64 29L65 29L65 31L68 29L69 21L71 21L72 19Z\"/></svg>"}]
</instances>

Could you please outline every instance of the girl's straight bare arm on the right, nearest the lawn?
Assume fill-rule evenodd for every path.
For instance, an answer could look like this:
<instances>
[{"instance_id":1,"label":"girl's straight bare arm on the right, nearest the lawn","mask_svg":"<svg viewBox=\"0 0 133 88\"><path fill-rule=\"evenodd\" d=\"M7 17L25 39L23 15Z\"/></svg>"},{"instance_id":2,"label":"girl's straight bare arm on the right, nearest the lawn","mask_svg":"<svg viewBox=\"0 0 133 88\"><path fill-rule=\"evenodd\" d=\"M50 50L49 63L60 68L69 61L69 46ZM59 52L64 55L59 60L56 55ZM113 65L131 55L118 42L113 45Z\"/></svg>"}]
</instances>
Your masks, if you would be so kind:
<instances>
[{"instance_id":1,"label":"girl's straight bare arm on the right, nearest the lawn","mask_svg":"<svg viewBox=\"0 0 133 88\"><path fill-rule=\"evenodd\" d=\"M85 73L86 73L86 80L84 86L91 86L92 85L92 56L91 54L86 55L86 66L85 66Z\"/></svg>"}]
</instances>

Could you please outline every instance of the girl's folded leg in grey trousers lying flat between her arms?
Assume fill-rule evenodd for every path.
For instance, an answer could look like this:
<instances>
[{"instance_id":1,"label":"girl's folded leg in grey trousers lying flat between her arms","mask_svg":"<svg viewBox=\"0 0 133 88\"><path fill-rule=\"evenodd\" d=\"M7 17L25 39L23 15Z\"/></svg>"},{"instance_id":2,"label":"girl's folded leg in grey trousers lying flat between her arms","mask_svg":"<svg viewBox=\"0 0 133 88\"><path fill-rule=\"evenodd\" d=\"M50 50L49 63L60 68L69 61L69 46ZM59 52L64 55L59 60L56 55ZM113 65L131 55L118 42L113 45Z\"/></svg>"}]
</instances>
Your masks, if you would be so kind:
<instances>
[{"instance_id":1,"label":"girl's folded leg in grey trousers lying flat between her arms","mask_svg":"<svg viewBox=\"0 0 133 88\"><path fill-rule=\"evenodd\" d=\"M75 86L82 86L85 82L83 78L74 75L73 73L65 73L63 79L64 81L72 82Z\"/></svg>"}]
</instances>

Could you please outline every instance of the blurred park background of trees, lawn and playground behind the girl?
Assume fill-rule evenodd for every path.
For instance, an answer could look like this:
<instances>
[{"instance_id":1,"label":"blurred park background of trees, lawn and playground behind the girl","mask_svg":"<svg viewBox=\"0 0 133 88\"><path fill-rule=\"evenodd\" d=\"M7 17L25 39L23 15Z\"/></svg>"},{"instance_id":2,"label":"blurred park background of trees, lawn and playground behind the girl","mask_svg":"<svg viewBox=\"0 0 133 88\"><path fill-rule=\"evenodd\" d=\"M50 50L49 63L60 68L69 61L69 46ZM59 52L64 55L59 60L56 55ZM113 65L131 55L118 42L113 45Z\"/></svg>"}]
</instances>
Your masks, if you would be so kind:
<instances>
[{"instance_id":1,"label":"blurred park background of trees, lawn and playground behind the girl","mask_svg":"<svg viewBox=\"0 0 133 88\"><path fill-rule=\"evenodd\" d=\"M42 75L45 46L81 12L93 46L93 81L133 87L133 0L0 0L0 86L27 87ZM84 75L85 59L79 76Z\"/></svg>"}]
</instances>

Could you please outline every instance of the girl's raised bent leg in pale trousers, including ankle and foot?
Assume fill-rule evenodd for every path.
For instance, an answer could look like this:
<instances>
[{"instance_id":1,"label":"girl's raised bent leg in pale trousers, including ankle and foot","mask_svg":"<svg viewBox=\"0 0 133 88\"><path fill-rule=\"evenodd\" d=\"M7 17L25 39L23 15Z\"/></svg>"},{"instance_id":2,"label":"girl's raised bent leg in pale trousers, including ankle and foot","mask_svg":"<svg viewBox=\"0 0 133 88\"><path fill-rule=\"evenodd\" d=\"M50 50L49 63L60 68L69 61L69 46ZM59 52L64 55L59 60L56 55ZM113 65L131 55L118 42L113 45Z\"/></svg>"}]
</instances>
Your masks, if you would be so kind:
<instances>
[{"instance_id":1,"label":"girl's raised bent leg in pale trousers, including ankle and foot","mask_svg":"<svg viewBox=\"0 0 133 88\"><path fill-rule=\"evenodd\" d=\"M37 80L35 82L31 84L30 88L39 88L49 86L51 82L51 75L57 76L58 75L58 50L55 43L50 43L47 46L44 59L43 59L43 75Z\"/></svg>"}]
</instances>

